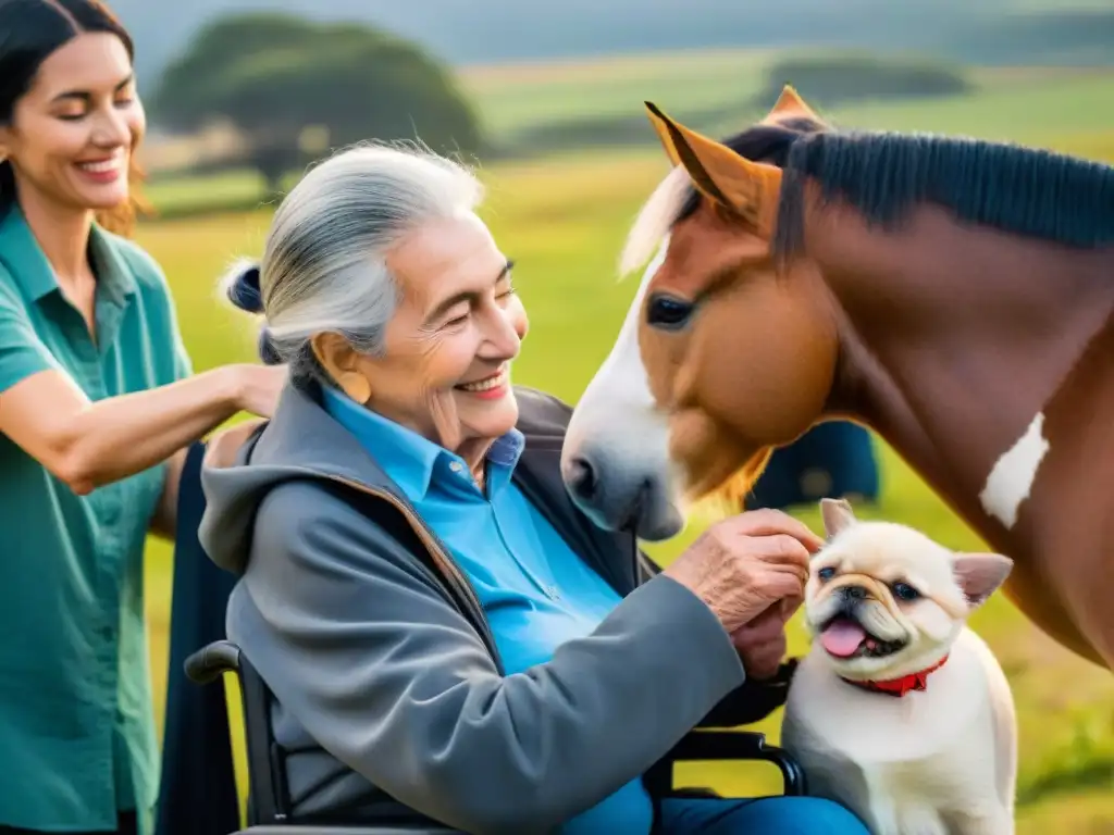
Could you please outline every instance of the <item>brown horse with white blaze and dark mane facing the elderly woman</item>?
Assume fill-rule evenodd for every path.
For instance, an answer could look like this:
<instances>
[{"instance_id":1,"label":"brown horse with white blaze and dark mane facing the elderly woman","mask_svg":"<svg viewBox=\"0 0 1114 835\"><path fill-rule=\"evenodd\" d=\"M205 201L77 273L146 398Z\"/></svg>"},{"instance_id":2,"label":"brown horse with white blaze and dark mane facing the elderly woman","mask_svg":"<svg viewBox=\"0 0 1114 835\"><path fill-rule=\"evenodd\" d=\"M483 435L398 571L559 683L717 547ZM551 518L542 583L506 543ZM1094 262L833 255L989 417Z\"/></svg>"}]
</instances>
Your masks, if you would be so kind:
<instances>
[{"instance_id":1,"label":"brown horse with white blaze and dark mane facing the elderly woman","mask_svg":"<svg viewBox=\"0 0 1114 835\"><path fill-rule=\"evenodd\" d=\"M647 107L674 168L569 428L575 501L668 538L685 502L854 420L1014 559L1023 612L1114 669L1114 168L841 132L791 88L725 144Z\"/></svg>"}]
</instances>

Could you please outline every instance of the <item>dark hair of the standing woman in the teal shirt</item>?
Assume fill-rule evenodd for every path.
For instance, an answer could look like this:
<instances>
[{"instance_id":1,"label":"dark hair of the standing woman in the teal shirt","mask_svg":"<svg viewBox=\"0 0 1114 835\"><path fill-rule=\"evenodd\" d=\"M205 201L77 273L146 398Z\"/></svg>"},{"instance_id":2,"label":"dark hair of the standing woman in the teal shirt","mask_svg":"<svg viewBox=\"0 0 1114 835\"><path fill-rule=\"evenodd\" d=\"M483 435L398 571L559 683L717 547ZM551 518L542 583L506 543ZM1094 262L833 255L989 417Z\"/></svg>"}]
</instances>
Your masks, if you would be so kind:
<instances>
[{"instance_id":1,"label":"dark hair of the standing woman in the teal shirt","mask_svg":"<svg viewBox=\"0 0 1114 835\"><path fill-rule=\"evenodd\" d=\"M0 0L0 126L11 126L16 102L30 89L42 62L81 32L115 35L135 59L131 36L98 0ZM118 234L130 234L136 216L149 210L138 191L144 173L134 153L128 179L128 202L97 213L98 223ZM0 160L0 217L14 202L11 163Z\"/></svg>"}]
</instances>

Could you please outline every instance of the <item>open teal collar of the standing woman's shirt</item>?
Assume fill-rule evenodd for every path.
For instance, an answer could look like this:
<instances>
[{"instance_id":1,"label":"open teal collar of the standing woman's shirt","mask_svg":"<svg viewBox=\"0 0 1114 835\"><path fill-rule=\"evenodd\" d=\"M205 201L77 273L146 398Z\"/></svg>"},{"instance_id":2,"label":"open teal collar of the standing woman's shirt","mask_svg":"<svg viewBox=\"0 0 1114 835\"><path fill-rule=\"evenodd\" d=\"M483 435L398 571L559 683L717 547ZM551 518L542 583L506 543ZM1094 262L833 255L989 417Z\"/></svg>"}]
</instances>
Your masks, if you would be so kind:
<instances>
[{"instance_id":1,"label":"open teal collar of the standing woman's shirt","mask_svg":"<svg viewBox=\"0 0 1114 835\"><path fill-rule=\"evenodd\" d=\"M123 306L125 298L135 293L135 278L109 234L97 224L92 225L89 249L98 287L104 289L106 298ZM53 267L18 204L0 217L0 262L33 302L58 289Z\"/></svg>"}]
</instances>

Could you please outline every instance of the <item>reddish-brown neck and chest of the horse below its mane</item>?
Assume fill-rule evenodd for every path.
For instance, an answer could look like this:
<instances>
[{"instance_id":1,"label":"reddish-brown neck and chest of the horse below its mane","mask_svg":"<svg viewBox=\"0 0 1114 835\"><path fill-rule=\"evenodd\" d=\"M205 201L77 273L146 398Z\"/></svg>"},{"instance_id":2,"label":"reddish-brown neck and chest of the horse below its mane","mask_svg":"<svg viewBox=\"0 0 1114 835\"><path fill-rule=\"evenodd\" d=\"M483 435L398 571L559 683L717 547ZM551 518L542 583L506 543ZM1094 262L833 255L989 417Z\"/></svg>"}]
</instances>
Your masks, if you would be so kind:
<instances>
[{"instance_id":1,"label":"reddish-brown neck and chest of the horse below its mane","mask_svg":"<svg viewBox=\"0 0 1114 835\"><path fill-rule=\"evenodd\" d=\"M876 429L1014 559L1007 593L1029 618L1114 669L1100 581L1114 568L1114 249L1033 249L978 273L957 253L873 273L885 311L844 293L831 406ZM938 292L925 275L902 292L902 269L936 273Z\"/></svg>"}]
</instances>

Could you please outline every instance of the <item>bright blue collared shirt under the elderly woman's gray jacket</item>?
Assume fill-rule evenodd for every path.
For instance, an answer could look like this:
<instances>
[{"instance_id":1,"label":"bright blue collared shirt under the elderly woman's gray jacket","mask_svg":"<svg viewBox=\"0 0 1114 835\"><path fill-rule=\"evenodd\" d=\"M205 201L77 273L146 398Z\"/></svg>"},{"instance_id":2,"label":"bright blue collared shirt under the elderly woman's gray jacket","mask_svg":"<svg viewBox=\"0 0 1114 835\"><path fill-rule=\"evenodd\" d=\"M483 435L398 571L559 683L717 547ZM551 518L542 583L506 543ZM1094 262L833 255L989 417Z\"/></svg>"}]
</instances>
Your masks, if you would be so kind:
<instances>
[{"instance_id":1,"label":"bright blue collared shirt under the elderly woman's gray jacket","mask_svg":"<svg viewBox=\"0 0 1114 835\"><path fill-rule=\"evenodd\" d=\"M520 432L511 430L491 445L485 495L468 464L443 446L328 386L324 405L452 551L479 596L506 675L545 664L558 646L589 635L618 605L618 593L511 481L525 445ZM561 833L648 833L652 821L649 796L636 778Z\"/></svg>"}]
</instances>

